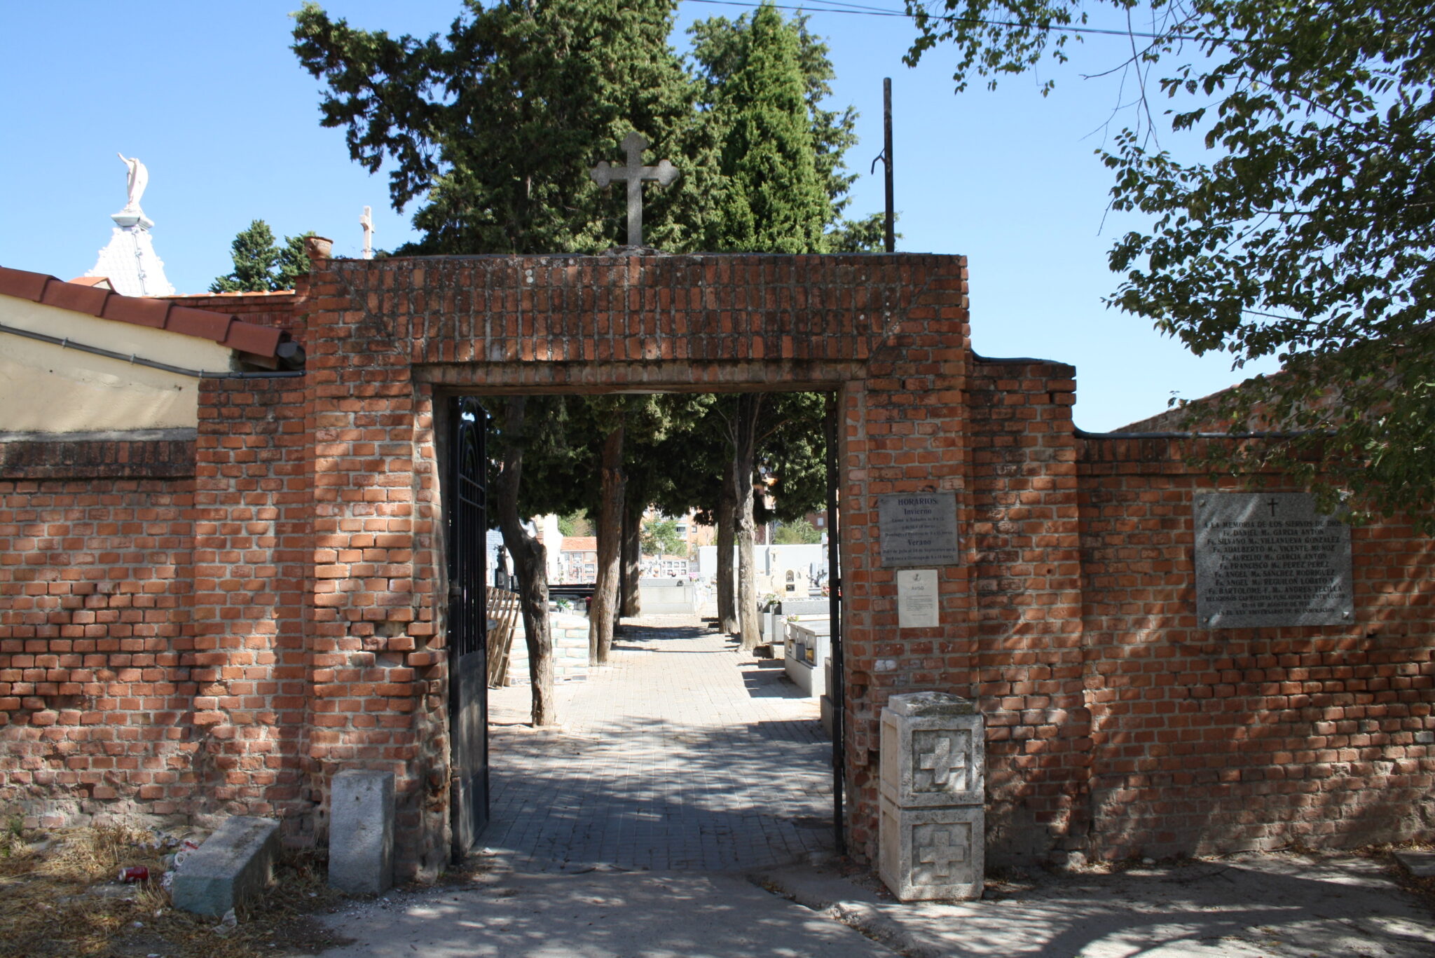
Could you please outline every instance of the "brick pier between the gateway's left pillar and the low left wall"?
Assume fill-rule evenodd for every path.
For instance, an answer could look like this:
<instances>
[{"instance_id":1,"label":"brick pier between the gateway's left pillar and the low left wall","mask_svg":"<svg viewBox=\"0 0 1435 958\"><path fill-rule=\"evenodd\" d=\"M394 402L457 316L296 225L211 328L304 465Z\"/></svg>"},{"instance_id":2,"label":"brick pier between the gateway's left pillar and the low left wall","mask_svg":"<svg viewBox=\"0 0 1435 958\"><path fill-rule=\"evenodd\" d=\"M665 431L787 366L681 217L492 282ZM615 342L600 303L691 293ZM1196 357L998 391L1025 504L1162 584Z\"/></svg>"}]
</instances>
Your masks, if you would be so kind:
<instances>
[{"instance_id":1,"label":"brick pier between the gateway's left pillar and the low left wall","mask_svg":"<svg viewBox=\"0 0 1435 958\"><path fill-rule=\"evenodd\" d=\"M194 494L197 811L286 816L313 827L304 583L310 501L303 381L207 379ZM314 704L317 708L317 704ZM317 718L317 717L314 717Z\"/></svg>"}]
</instances>

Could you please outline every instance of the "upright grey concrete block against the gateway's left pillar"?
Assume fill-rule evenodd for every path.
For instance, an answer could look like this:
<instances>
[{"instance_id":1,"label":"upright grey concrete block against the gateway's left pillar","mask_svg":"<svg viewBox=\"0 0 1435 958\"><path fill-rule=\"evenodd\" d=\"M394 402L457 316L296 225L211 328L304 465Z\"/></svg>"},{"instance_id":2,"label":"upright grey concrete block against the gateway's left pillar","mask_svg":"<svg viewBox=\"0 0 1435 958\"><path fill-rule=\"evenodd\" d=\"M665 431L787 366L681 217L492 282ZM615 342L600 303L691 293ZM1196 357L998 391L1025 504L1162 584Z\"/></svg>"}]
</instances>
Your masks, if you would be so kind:
<instances>
[{"instance_id":1,"label":"upright grey concrete block against the gateway's left pillar","mask_svg":"<svg viewBox=\"0 0 1435 958\"><path fill-rule=\"evenodd\" d=\"M393 773L334 776L329 797L329 886L382 895L393 885Z\"/></svg>"}]
</instances>

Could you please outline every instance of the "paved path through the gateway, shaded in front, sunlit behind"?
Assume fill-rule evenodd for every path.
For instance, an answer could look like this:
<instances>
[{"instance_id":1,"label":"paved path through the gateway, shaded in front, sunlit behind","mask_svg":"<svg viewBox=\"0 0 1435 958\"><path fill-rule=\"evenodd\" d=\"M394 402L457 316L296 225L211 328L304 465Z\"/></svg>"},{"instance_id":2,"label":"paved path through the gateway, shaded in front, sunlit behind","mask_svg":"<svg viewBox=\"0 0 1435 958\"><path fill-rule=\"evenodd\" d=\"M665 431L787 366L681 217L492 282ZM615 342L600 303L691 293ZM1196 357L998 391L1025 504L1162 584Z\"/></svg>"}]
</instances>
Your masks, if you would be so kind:
<instances>
[{"instance_id":1,"label":"paved path through the gateway, shaded in front, sunlit behind","mask_svg":"<svg viewBox=\"0 0 1435 958\"><path fill-rule=\"evenodd\" d=\"M524 724L527 684L489 689L479 846L541 872L743 869L831 850L815 699L695 618L629 622L607 666L558 685L557 731Z\"/></svg>"}]
</instances>

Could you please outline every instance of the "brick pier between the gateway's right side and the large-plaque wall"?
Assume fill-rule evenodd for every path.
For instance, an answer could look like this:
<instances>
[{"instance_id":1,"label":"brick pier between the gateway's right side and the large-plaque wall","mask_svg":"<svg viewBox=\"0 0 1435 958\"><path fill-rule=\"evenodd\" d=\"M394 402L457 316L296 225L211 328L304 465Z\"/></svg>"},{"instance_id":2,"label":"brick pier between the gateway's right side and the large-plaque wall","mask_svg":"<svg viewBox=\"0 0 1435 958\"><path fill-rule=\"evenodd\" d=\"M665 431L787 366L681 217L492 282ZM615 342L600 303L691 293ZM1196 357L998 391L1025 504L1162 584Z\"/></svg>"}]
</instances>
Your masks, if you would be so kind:
<instances>
[{"instance_id":1,"label":"brick pier between the gateway's right side and the large-plaque wall","mask_svg":"<svg viewBox=\"0 0 1435 958\"><path fill-rule=\"evenodd\" d=\"M1075 369L973 365L976 662L987 720L989 855L1045 856L1086 830Z\"/></svg>"}]
</instances>

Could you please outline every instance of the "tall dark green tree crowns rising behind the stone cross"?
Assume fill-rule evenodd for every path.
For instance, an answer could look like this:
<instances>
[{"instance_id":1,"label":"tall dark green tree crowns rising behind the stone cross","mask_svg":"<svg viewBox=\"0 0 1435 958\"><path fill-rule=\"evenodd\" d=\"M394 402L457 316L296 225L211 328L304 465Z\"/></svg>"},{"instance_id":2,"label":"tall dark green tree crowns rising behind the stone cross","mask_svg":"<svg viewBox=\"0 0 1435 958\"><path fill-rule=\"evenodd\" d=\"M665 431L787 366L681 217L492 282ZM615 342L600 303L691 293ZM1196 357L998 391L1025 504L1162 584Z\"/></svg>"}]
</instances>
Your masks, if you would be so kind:
<instances>
[{"instance_id":1,"label":"tall dark green tree crowns rising behind the stone cross","mask_svg":"<svg viewBox=\"0 0 1435 958\"><path fill-rule=\"evenodd\" d=\"M851 108L821 106L831 93L827 47L802 19L768 7L695 24L687 70L667 45L673 10L670 0L465 0L445 36L392 37L306 3L294 14L294 52L327 88L321 124L344 128L349 155L370 172L390 161L396 210L419 203L423 238L400 254L597 253L626 243L621 190L600 190L588 171L620 161L631 129L651 142L649 162L666 158L682 174L644 187L649 244L825 248L822 231L847 225L854 177L842 155L857 139ZM779 88L758 86L776 75ZM772 142L762 139L769 132ZM772 168L789 161L796 172ZM763 169L776 180L756 181ZM785 184L796 188L791 198ZM762 214L776 218L758 230L751 217ZM748 217L745 244L719 225L732 215Z\"/></svg>"}]
</instances>

